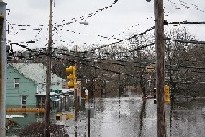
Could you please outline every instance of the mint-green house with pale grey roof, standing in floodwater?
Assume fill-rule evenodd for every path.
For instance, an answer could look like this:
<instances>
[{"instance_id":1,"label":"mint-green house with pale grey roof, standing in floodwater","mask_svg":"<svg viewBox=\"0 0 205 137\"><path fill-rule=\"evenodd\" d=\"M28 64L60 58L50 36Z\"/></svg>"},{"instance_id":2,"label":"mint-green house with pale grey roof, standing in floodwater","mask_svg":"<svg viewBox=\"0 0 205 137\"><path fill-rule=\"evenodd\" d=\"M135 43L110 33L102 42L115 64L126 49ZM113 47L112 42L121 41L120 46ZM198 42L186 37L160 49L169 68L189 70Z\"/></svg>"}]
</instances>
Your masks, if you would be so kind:
<instances>
[{"instance_id":1,"label":"mint-green house with pale grey roof, standing in floodwater","mask_svg":"<svg viewBox=\"0 0 205 137\"><path fill-rule=\"evenodd\" d=\"M46 67L42 63L9 63L7 65L7 107L44 107ZM62 78L51 75L51 89L62 89Z\"/></svg>"}]
</instances>

